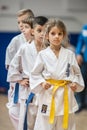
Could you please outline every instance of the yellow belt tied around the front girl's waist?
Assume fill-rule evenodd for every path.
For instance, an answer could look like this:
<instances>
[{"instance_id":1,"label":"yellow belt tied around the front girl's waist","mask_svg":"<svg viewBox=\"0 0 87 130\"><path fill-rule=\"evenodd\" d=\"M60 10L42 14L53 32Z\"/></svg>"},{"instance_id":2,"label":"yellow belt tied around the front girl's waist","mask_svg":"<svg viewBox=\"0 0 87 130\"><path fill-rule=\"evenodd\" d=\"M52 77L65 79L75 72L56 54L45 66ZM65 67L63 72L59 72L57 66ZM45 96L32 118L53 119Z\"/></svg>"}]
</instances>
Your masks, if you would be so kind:
<instances>
[{"instance_id":1,"label":"yellow belt tied around the front girl's waist","mask_svg":"<svg viewBox=\"0 0 87 130\"><path fill-rule=\"evenodd\" d=\"M52 90L52 101L51 101L51 109L50 109L50 118L49 123L54 122L54 116L55 116L55 93L59 87L64 87L64 117L63 117L63 128L68 128L68 113L69 113L69 101L68 101L68 88L67 84L70 83L70 81L67 80L54 80L54 79L47 79L47 82L54 85ZM61 97L60 97L61 98Z\"/></svg>"}]
</instances>

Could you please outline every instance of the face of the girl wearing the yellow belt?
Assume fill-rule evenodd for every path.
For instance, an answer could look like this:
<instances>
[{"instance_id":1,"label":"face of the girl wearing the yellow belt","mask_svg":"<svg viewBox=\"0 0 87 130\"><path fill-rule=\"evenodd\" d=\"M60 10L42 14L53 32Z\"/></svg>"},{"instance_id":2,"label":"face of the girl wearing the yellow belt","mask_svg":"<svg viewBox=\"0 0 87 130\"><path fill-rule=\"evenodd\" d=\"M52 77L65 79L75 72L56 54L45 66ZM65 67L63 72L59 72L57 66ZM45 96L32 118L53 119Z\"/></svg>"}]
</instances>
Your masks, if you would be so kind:
<instances>
[{"instance_id":1,"label":"face of the girl wearing the yellow belt","mask_svg":"<svg viewBox=\"0 0 87 130\"><path fill-rule=\"evenodd\" d=\"M52 27L48 33L48 40L50 44L54 46L60 46L63 39L64 39L63 31L57 26Z\"/></svg>"}]
</instances>

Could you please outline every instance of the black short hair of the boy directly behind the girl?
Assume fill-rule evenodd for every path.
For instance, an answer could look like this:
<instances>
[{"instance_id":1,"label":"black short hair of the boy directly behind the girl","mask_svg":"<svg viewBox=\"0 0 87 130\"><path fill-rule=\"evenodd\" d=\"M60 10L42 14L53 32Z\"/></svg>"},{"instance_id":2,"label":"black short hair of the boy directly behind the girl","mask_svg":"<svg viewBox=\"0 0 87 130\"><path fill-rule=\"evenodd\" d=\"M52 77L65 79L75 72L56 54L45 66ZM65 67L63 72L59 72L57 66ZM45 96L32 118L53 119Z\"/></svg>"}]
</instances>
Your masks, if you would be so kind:
<instances>
[{"instance_id":1,"label":"black short hair of the boy directly behind the girl","mask_svg":"<svg viewBox=\"0 0 87 130\"><path fill-rule=\"evenodd\" d=\"M46 18L45 16L37 16L34 17L33 20L33 28L38 24L38 25L45 25L45 23L48 21L48 18Z\"/></svg>"}]
</instances>

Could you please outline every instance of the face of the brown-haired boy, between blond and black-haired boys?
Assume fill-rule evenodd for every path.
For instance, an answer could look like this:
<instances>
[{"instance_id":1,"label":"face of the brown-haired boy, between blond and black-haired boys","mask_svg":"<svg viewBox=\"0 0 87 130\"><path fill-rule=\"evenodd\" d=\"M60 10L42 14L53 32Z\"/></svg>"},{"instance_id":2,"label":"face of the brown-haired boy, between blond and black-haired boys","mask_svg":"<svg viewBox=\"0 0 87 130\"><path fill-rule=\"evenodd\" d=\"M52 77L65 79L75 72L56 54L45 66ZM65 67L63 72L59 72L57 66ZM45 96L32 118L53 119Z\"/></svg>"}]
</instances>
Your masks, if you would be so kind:
<instances>
[{"instance_id":1,"label":"face of the brown-haired boy, between blond and black-haired boys","mask_svg":"<svg viewBox=\"0 0 87 130\"><path fill-rule=\"evenodd\" d=\"M27 23L24 23L22 32L23 32L26 40L30 41L31 40L31 32L32 32L31 26Z\"/></svg>"}]
</instances>

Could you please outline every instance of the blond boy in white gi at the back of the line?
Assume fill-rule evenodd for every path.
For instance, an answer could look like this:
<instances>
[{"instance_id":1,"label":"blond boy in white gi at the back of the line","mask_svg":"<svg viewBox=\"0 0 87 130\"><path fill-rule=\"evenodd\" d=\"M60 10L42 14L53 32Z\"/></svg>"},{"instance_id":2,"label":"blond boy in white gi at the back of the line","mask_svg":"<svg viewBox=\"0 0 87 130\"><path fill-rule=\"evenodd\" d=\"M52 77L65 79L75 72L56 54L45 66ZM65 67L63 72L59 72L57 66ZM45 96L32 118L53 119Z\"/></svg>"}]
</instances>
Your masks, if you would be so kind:
<instances>
[{"instance_id":1,"label":"blond boy in white gi at the back of the line","mask_svg":"<svg viewBox=\"0 0 87 130\"><path fill-rule=\"evenodd\" d=\"M7 49L6 49L6 59L5 59L5 66L6 69L9 69L9 65L15 54L17 53L18 49L21 45L26 44L27 41L31 40L31 37L28 32L28 37L26 37L24 31L25 24L23 21L28 17L34 17L34 14L32 10L30 9L22 9L18 11L17 13L17 21L18 21L18 27L20 30L20 34L15 36L11 42L9 43ZM27 26L29 30L29 26ZM14 90L15 90L15 83L10 82L9 90L8 90L8 103L6 104L9 108L9 116L10 119L17 130L17 124L18 124L18 118L19 118L19 112L18 112L18 105L14 104L13 98L14 98Z\"/></svg>"}]
</instances>

